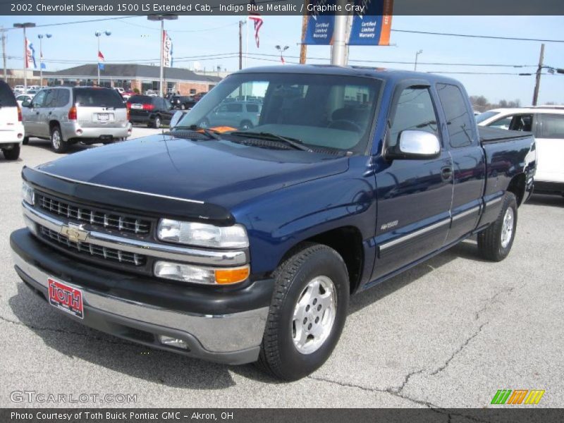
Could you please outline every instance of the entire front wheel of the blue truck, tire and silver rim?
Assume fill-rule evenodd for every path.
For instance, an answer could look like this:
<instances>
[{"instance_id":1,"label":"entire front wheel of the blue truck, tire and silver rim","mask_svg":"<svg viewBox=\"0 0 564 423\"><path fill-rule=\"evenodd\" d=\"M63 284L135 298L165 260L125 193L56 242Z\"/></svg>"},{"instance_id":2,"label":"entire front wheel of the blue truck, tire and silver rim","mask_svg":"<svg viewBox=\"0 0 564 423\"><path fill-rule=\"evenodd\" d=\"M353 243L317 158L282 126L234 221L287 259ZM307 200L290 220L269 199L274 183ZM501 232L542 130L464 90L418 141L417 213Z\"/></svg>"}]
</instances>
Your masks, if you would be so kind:
<instances>
[{"instance_id":1,"label":"entire front wheel of the blue truck, tire and silver rim","mask_svg":"<svg viewBox=\"0 0 564 423\"><path fill-rule=\"evenodd\" d=\"M275 271L257 365L284 380L311 374L337 344L348 309L348 271L331 247L307 243Z\"/></svg>"}]
</instances>

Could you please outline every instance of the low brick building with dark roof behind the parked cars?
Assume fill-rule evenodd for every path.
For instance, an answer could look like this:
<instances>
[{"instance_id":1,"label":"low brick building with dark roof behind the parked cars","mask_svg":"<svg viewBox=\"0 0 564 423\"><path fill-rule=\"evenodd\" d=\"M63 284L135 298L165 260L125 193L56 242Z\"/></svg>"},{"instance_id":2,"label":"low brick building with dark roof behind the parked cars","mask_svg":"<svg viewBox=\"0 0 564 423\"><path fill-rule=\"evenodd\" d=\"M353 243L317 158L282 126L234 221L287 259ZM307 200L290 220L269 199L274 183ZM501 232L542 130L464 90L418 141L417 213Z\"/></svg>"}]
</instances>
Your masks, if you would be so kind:
<instances>
[{"instance_id":1,"label":"low brick building with dark roof behind the parked cars","mask_svg":"<svg viewBox=\"0 0 564 423\"><path fill-rule=\"evenodd\" d=\"M56 72L44 72L47 85L97 85L97 64L75 66ZM164 68L166 92L180 92L183 95L208 92L221 80L218 76L201 75L183 68ZM159 90L159 66L137 64L106 64L100 71L100 85L137 88L140 92Z\"/></svg>"}]
</instances>

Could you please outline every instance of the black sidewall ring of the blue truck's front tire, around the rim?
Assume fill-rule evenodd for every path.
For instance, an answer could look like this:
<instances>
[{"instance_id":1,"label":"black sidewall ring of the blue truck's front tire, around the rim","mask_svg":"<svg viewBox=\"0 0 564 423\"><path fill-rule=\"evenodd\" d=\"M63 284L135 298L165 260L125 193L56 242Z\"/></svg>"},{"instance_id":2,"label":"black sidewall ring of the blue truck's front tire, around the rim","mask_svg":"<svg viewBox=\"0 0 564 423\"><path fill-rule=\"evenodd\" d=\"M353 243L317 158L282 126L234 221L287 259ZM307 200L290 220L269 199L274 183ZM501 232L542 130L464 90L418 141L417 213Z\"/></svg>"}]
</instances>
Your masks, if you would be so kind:
<instances>
[{"instance_id":1,"label":"black sidewall ring of the blue truck's front tire, around the rim","mask_svg":"<svg viewBox=\"0 0 564 423\"><path fill-rule=\"evenodd\" d=\"M335 286L336 316L331 333L318 350L311 354L299 353L292 338L293 313L303 289L316 276L331 278ZM319 368L333 352L343 331L348 311L348 274L343 259L333 250L324 249L315 252L300 266L295 273L286 298L281 305L278 327L278 345L282 362L290 364L285 372L290 379L299 379Z\"/></svg>"}]
</instances>

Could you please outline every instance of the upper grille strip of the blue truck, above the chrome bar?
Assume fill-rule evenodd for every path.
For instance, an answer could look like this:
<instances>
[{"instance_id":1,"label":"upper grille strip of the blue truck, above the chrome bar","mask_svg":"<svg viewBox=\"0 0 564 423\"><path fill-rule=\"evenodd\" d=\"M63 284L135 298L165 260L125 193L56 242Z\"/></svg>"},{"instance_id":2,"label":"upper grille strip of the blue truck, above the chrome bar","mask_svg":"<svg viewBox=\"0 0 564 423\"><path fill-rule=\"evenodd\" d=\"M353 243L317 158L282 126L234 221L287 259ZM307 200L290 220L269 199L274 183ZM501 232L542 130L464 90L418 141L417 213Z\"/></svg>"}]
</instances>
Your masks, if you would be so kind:
<instances>
[{"instance_id":1,"label":"upper grille strip of the blue truck, above the chrome bar","mask_svg":"<svg viewBox=\"0 0 564 423\"><path fill-rule=\"evenodd\" d=\"M66 216L68 219L136 235L147 235L151 231L151 222L145 219L69 204L38 192L35 194L35 199L42 209L59 216Z\"/></svg>"}]
</instances>

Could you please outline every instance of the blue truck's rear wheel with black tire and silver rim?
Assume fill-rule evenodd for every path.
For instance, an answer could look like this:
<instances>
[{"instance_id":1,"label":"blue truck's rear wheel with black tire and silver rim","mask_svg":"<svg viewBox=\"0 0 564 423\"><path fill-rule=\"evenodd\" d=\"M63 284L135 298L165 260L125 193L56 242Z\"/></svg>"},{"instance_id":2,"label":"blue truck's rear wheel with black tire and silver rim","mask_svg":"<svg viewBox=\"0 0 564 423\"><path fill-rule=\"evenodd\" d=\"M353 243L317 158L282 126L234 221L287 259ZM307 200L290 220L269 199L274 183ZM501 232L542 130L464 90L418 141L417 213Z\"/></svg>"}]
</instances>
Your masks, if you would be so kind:
<instances>
[{"instance_id":1,"label":"blue truck's rear wheel with black tire and silver rim","mask_svg":"<svg viewBox=\"0 0 564 423\"><path fill-rule=\"evenodd\" d=\"M510 222L508 222L508 226L504 229L506 219L510 219ZM511 228L510 235L507 235L507 228ZM492 262L501 262L511 251L516 229L517 199L513 192L505 192L503 200L501 200L501 211L498 218L484 231L478 233L478 251L480 255Z\"/></svg>"}]
</instances>

